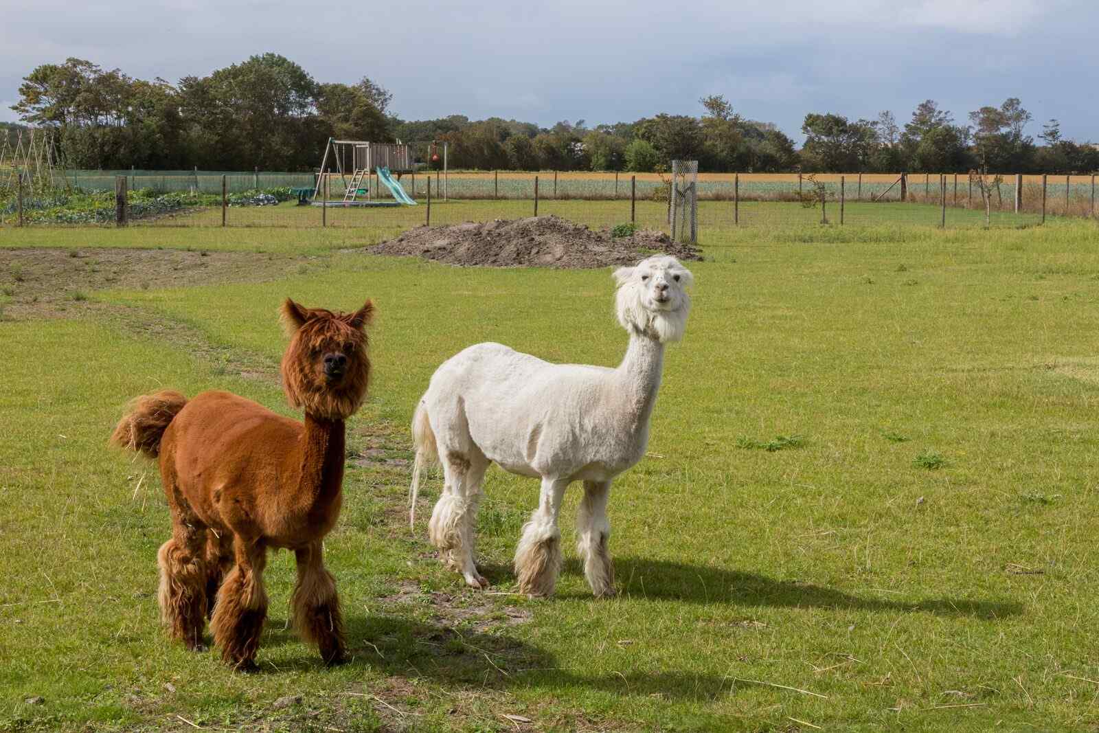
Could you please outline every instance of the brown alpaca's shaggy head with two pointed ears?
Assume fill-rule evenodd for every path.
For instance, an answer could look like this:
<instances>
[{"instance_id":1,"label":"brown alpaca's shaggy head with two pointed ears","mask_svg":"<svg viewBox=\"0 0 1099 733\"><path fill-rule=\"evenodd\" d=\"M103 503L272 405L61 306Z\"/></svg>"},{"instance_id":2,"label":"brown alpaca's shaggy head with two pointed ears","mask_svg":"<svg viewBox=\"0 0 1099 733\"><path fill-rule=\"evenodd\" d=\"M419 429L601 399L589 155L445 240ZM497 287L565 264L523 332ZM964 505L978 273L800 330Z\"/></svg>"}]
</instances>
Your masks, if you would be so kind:
<instances>
[{"instance_id":1,"label":"brown alpaca's shaggy head with two pointed ears","mask_svg":"<svg viewBox=\"0 0 1099 733\"><path fill-rule=\"evenodd\" d=\"M346 420L358 410L370 378L366 324L373 314L369 300L354 313L334 313L286 299L282 389L290 404L321 420Z\"/></svg>"}]
</instances>

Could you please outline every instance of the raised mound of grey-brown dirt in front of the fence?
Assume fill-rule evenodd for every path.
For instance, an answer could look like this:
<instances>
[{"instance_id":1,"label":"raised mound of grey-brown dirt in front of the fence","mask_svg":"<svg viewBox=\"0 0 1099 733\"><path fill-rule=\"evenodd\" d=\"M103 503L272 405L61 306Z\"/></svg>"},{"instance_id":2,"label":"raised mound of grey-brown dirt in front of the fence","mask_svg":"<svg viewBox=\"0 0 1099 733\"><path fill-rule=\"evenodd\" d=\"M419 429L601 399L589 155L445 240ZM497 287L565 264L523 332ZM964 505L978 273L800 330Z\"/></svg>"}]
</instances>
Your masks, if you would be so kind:
<instances>
[{"instance_id":1,"label":"raised mound of grey-brown dirt in front of the fence","mask_svg":"<svg viewBox=\"0 0 1099 733\"><path fill-rule=\"evenodd\" d=\"M474 267L607 267L633 265L653 254L702 258L696 247L674 242L664 232L642 230L632 236L612 237L607 230L591 230L553 215L419 226L369 252Z\"/></svg>"}]
</instances>

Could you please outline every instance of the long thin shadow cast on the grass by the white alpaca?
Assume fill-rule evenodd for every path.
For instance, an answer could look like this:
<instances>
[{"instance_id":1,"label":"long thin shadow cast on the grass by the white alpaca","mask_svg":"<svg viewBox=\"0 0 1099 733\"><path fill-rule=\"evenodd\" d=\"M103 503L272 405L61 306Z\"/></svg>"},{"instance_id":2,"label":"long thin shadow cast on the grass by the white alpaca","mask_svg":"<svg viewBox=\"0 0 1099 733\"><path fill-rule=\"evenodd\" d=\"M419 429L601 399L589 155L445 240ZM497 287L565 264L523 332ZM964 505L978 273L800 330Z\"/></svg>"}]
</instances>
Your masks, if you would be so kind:
<instances>
[{"instance_id":1,"label":"long thin shadow cast on the grass by the white alpaca","mask_svg":"<svg viewBox=\"0 0 1099 733\"><path fill-rule=\"evenodd\" d=\"M1023 612L1022 604L1014 600L865 598L800 579L777 580L755 573L641 557L618 557L614 559L614 568L619 593L624 598L747 607L908 611L990 620ZM575 559L566 562L563 569L580 574L584 571Z\"/></svg>"}]
</instances>

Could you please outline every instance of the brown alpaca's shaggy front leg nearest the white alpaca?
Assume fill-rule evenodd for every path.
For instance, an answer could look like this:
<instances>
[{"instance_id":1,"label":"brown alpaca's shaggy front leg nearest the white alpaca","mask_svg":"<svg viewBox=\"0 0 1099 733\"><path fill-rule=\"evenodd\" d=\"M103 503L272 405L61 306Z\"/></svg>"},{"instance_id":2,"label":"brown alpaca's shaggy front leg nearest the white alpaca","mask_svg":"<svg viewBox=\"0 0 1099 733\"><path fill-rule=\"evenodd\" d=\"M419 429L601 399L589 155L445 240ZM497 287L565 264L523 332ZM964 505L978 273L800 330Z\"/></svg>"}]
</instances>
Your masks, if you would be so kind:
<instances>
[{"instance_id":1,"label":"brown alpaca's shaggy front leg nearest the white alpaca","mask_svg":"<svg viewBox=\"0 0 1099 733\"><path fill-rule=\"evenodd\" d=\"M340 664L346 658L343 617L336 581L324 567L321 543L296 552L298 585L293 588L293 626L309 644L317 644L326 664Z\"/></svg>"}]
</instances>

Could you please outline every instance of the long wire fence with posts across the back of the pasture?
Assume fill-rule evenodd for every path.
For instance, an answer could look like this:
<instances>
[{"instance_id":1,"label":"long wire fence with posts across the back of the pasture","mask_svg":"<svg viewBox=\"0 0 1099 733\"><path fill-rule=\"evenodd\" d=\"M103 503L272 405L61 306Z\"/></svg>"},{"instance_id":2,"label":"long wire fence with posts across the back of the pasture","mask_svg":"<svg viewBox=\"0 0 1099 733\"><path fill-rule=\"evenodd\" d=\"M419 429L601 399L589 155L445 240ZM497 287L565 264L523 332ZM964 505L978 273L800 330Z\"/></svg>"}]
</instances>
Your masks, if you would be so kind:
<instances>
[{"instance_id":1,"label":"long wire fence with posts across the back of the pasture","mask_svg":"<svg viewBox=\"0 0 1099 733\"><path fill-rule=\"evenodd\" d=\"M266 176L298 176L278 180ZM606 176L606 175L604 175ZM51 196L16 192L0 202L0 225L141 225L141 226L282 226L356 227L375 230L370 236L392 236L422 224L518 219L555 214L593 227L611 229L633 223L639 227L670 231L670 188L659 176L642 180L640 175L566 179L545 174L476 174L476 191L491 186L492 195L470 196L462 174L452 174L449 197L439 198L443 181L434 171L406 174L399 181L417 206L398 206L386 186L371 178L362 184L368 193L349 192L340 176L326 176L322 192L312 197L312 174L221 174L203 180L200 173L184 174L198 186L178 192L141 187L148 176L124 171L112 179L108 191L82 193L75 189ZM162 178L169 180L167 174ZM862 178L862 180L861 180ZM986 187L967 176L846 175L798 176L750 174L699 174L699 237L706 242L715 231L736 226L811 225L924 225L924 226L1029 226L1050 216L1096 216L1092 177L1012 177ZM247 180L242 180L247 179ZM260 189L254 187L257 182ZM413 180L414 179L414 180ZM655 179L655 180L654 180ZM1036 179L1036 180L1035 180ZM1043 180L1044 179L1044 180ZM133 188L132 181L138 181ZM985 179L986 181L988 179ZM296 182L295 187L265 187L269 182ZM511 195L499 192L508 181ZM647 184L643 186L643 184ZM753 191L753 184L757 190ZM611 187L613 196L579 196L580 187ZM576 186L576 189L569 189ZM429 201L430 189L430 201ZM444 187L443 190L446 190ZM761 191L763 193L761 195ZM365 199L369 197L369 201ZM986 211L987 203L987 211ZM323 206L322 206L323 204Z\"/></svg>"}]
</instances>

